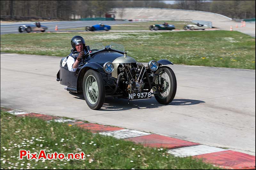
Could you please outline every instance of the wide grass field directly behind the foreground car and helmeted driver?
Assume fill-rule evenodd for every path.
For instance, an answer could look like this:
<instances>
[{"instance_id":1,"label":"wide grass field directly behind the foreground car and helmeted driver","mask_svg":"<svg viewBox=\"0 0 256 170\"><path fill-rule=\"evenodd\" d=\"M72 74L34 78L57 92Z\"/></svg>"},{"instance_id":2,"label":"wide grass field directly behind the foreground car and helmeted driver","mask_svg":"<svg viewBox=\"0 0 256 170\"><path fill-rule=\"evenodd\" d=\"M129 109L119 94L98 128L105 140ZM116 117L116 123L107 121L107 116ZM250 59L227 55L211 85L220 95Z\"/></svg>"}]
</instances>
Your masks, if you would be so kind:
<instances>
[{"instance_id":1,"label":"wide grass field directly behind the foreground car and helmeted driver","mask_svg":"<svg viewBox=\"0 0 256 170\"><path fill-rule=\"evenodd\" d=\"M138 62L167 59L174 64L255 70L255 38L237 31L22 33L1 35L1 52L67 56L70 40L86 45L123 44Z\"/></svg>"}]
</instances>

